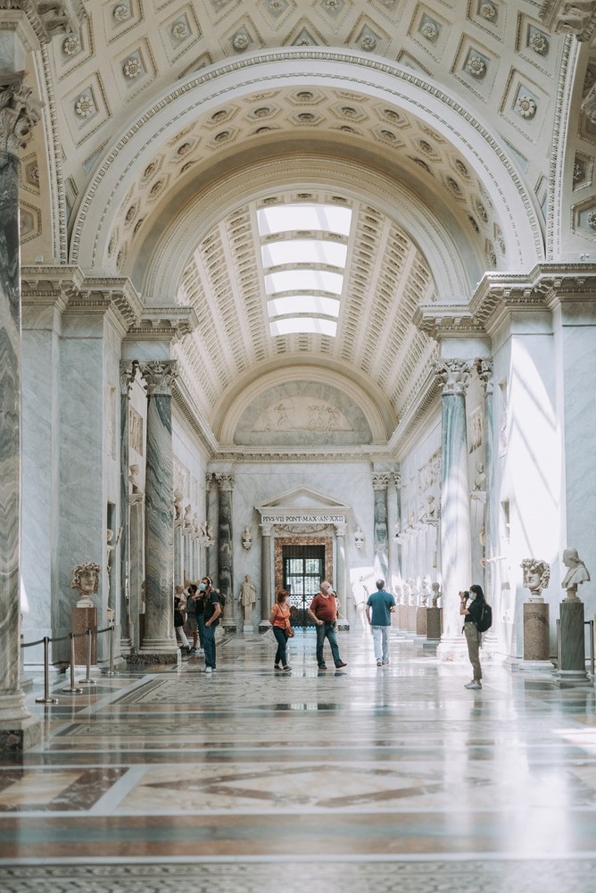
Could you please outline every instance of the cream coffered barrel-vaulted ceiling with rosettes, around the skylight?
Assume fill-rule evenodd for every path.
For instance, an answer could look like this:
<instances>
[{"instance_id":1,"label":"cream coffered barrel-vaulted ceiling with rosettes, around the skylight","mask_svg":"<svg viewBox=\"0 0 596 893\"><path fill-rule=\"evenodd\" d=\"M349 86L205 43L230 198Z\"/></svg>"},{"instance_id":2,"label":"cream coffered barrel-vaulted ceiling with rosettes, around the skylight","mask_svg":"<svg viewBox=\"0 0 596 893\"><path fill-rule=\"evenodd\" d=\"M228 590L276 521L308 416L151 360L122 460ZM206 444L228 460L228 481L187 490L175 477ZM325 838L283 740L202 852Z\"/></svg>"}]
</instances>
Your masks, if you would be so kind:
<instances>
[{"instance_id":1,"label":"cream coffered barrel-vaulted ceiling with rosettes, around the skylight","mask_svg":"<svg viewBox=\"0 0 596 893\"><path fill-rule=\"evenodd\" d=\"M54 38L29 74L46 126L23 158L23 261L127 276L148 308L192 307L174 352L216 438L232 438L243 388L325 367L377 405L388 439L435 355L418 305L465 304L484 271L547 253L575 45L540 8L87 2L80 35ZM584 190L589 242L581 116L574 139L567 191ZM335 337L269 327L258 214L301 203L352 211Z\"/></svg>"}]
</instances>

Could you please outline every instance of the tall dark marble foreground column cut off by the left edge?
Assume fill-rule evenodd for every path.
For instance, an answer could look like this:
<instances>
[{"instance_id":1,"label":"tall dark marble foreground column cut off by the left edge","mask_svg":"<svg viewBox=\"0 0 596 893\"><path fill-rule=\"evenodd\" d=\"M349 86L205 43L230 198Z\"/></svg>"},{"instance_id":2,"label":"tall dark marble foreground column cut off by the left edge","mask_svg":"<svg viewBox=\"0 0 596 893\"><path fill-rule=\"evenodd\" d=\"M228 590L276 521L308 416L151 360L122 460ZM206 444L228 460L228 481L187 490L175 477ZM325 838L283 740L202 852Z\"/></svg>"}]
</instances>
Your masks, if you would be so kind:
<instances>
[{"instance_id":1,"label":"tall dark marble foreground column cut off by the left edge","mask_svg":"<svg viewBox=\"0 0 596 893\"><path fill-rule=\"evenodd\" d=\"M1 45L4 48L4 41ZM39 739L21 689L21 247L19 148L39 120L19 75L0 74L0 750Z\"/></svg>"}]
</instances>

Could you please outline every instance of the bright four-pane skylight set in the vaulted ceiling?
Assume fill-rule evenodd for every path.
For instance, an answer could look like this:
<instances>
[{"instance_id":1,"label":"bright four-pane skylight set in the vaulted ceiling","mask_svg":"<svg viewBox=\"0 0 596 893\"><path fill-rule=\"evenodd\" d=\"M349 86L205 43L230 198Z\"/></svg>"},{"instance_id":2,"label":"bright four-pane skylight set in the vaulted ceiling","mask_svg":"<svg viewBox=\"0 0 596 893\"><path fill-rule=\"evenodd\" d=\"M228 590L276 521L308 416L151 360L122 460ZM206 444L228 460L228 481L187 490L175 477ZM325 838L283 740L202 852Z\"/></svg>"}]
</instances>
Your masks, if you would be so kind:
<instances>
[{"instance_id":1,"label":"bright four-pane skylight set in the vaulted ceiling","mask_svg":"<svg viewBox=\"0 0 596 893\"><path fill-rule=\"evenodd\" d=\"M257 222L271 335L334 338L352 211L334 204L277 204L258 211Z\"/></svg>"}]
</instances>

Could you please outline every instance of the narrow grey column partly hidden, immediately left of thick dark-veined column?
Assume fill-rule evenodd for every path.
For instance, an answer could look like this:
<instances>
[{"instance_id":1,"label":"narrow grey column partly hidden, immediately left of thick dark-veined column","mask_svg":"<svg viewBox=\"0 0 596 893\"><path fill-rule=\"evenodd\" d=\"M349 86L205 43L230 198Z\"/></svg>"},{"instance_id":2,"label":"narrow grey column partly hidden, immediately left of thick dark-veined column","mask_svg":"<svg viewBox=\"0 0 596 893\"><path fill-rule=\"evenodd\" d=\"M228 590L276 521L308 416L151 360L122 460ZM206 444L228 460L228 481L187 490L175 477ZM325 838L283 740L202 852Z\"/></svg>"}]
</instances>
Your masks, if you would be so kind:
<instances>
[{"instance_id":1,"label":"narrow grey column partly hidden, immediately left of thick dark-veined column","mask_svg":"<svg viewBox=\"0 0 596 893\"><path fill-rule=\"evenodd\" d=\"M128 514L129 431L128 404L130 390L137 375L137 363L120 363L120 651L128 654L132 647L130 599L128 597L130 567L130 526Z\"/></svg>"}]
</instances>

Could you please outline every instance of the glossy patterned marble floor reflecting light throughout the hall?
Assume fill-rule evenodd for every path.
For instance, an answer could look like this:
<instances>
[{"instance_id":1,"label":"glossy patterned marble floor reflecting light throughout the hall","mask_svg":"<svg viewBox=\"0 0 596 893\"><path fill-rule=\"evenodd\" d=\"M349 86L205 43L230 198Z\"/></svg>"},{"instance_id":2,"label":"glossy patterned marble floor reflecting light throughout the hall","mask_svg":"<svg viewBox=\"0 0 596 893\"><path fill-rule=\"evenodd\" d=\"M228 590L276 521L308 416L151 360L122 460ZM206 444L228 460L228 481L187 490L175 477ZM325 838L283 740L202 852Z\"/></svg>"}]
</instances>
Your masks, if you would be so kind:
<instances>
[{"instance_id":1,"label":"glossy patterned marble floor reflecting light throughout the hall","mask_svg":"<svg viewBox=\"0 0 596 893\"><path fill-rule=\"evenodd\" d=\"M467 664L393 633L339 634L291 673L259 636L218 671L96 675L38 705L41 745L0 759L0 889L402 893L596 890L596 698L548 672Z\"/></svg>"}]
</instances>

